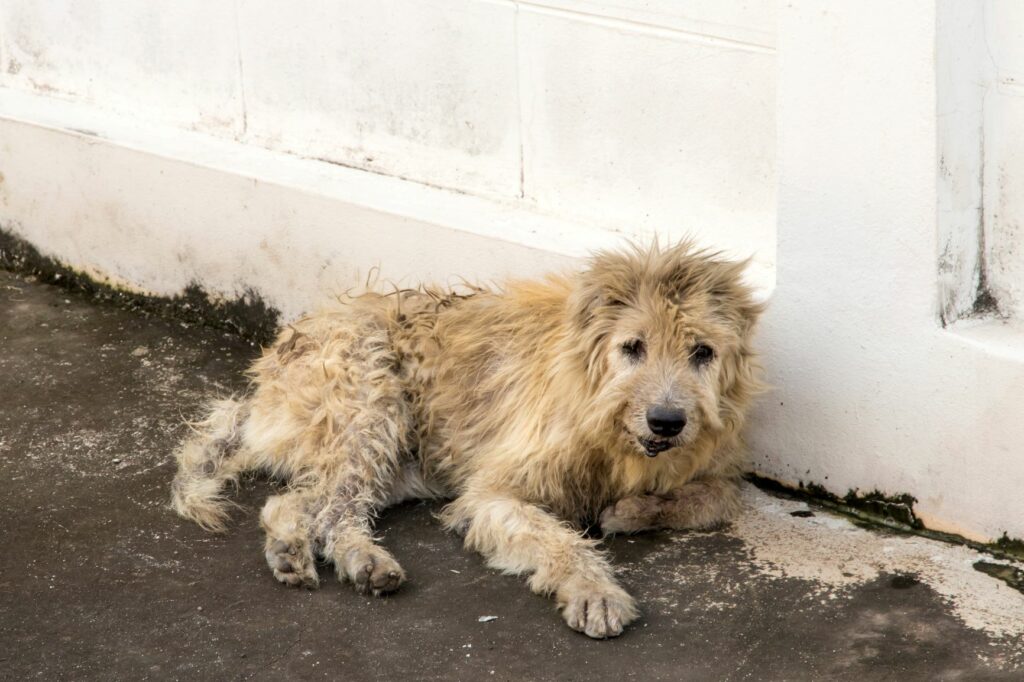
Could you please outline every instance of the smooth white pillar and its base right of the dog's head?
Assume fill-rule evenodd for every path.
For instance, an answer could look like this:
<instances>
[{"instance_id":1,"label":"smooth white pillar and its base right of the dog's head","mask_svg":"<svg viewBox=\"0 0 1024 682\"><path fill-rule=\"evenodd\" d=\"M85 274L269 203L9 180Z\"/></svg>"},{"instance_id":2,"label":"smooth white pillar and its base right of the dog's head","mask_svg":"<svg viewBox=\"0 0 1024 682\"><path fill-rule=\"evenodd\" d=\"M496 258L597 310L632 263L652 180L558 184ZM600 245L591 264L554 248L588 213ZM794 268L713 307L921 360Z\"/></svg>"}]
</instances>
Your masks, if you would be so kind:
<instances>
[{"instance_id":1,"label":"smooth white pillar and its base right of the dog's head","mask_svg":"<svg viewBox=\"0 0 1024 682\"><path fill-rule=\"evenodd\" d=\"M970 46L980 30L963 10L779 10L778 272L762 335L775 390L751 439L772 476L909 493L931 527L990 540L1024 532L1024 329L991 314L943 327L938 305L942 238L962 228L969 244L979 230L977 205L973 220L946 212L970 215L988 177L971 176L972 119L946 120L969 89L950 83L972 67L936 68L942 41ZM947 150L964 153L962 185L944 177Z\"/></svg>"}]
</instances>

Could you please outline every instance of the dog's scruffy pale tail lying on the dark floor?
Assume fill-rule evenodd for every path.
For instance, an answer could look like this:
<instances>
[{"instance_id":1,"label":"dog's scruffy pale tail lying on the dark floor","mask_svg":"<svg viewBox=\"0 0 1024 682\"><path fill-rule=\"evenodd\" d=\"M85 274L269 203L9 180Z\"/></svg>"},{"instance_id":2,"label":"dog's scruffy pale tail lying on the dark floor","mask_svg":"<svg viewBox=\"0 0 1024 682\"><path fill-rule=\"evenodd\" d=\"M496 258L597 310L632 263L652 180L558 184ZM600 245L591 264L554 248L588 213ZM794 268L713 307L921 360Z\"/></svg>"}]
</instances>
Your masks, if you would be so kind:
<instances>
[{"instance_id":1,"label":"dog's scruffy pale tail lying on the dark floor","mask_svg":"<svg viewBox=\"0 0 1024 682\"><path fill-rule=\"evenodd\" d=\"M178 472L171 484L171 506L207 530L226 527L231 503L224 487L245 469L242 425L248 404L233 397L215 400L206 419L190 423L193 433L174 454Z\"/></svg>"}]
</instances>

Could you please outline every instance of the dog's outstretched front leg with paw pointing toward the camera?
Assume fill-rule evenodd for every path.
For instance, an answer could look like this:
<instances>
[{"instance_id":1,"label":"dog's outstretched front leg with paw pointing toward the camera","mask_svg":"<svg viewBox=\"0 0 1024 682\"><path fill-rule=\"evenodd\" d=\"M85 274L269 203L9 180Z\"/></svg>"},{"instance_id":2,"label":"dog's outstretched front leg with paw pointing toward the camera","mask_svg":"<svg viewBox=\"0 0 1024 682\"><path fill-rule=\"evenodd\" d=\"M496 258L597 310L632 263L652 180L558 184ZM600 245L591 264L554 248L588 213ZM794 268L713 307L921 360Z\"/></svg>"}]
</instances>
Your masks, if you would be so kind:
<instances>
[{"instance_id":1,"label":"dog's outstretched front leg with paw pointing toward the camera","mask_svg":"<svg viewBox=\"0 0 1024 682\"><path fill-rule=\"evenodd\" d=\"M470 491L449 505L443 517L449 527L465 532L466 546L483 554L488 565L529 573L530 589L554 594L573 630L615 637L639 615L596 543L540 507L507 494Z\"/></svg>"}]
</instances>

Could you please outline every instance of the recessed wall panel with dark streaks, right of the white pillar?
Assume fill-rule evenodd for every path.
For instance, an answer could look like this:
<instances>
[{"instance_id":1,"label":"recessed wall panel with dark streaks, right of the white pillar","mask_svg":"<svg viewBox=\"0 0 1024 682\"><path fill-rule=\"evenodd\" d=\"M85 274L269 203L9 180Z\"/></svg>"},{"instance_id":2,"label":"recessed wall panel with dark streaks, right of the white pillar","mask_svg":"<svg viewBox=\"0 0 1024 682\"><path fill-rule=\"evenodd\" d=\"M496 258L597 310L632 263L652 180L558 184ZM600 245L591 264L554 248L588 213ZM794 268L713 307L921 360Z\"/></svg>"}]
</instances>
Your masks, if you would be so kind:
<instances>
[{"instance_id":1,"label":"recessed wall panel with dark streaks, right of the white pillar","mask_svg":"<svg viewBox=\"0 0 1024 682\"><path fill-rule=\"evenodd\" d=\"M1024 4L945 2L936 44L942 315L1024 312Z\"/></svg>"}]
</instances>

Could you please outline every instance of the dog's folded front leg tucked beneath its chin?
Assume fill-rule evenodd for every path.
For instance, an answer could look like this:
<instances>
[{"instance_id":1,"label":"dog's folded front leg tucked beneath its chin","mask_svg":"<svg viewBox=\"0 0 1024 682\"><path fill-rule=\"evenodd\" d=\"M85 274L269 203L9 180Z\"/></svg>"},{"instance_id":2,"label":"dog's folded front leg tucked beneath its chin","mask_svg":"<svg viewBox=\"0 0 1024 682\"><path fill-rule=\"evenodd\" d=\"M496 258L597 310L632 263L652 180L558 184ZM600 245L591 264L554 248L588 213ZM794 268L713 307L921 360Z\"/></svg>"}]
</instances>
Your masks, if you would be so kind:
<instances>
[{"instance_id":1,"label":"dog's folded front leg tucked beneath its chin","mask_svg":"<svg viewBox=\"0 0 1024 682\"><path fill-rule=\"evenodd\" d=\"M731 521L740 508L735 480L695 480L666 496L623 498L601 512L601 532L610 536L654 528L712 528Z\"/></svg>"}]
</instances>

